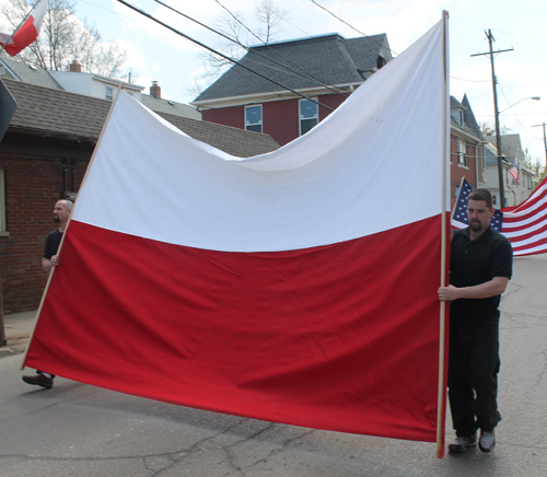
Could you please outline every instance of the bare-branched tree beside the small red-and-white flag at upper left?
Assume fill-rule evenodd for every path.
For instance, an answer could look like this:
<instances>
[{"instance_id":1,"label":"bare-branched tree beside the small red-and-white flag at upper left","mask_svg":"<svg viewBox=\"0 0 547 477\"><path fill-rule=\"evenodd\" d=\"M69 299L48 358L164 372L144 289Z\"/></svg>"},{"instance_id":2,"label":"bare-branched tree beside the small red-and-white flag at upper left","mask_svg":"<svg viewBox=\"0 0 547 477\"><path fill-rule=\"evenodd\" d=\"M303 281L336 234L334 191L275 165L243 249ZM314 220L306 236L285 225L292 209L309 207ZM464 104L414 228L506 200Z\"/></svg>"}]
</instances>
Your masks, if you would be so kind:
<instances>
[{"instance_id":1,"label":"bare-branched tree beside the small red-and-white flag at upper left","mask_svg":"<svg viewBox=\"0 0 547 477\"><path fill-rule=\"evenodd\" d=\"M34 3L8 0L0 8L0 18L13 31ZM119 75L127 51L115 42L103 42L94 24L88 25L75 18L74 7L74 0L49 0L38 39L15 58L54 71L65 71L73 60L78 60L84 72L109 78Z\"/></svg>"}]
</instances>

